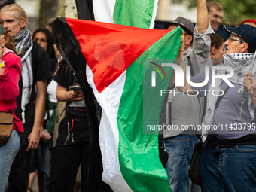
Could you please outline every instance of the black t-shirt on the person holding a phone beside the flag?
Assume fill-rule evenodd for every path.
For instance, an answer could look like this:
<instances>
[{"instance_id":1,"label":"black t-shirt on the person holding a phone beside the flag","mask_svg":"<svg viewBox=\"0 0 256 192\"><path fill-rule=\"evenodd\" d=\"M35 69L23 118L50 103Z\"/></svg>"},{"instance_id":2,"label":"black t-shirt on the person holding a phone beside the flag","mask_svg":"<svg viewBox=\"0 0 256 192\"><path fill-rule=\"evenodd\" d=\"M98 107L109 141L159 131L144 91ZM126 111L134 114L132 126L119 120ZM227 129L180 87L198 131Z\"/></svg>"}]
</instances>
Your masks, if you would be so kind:
<instances>
[{"instance_id":1,"label":"black t-shirt on the person holding a phone beside the flag","mask_svg":"<svg viewBox=\"0 0 256 192\"><path fill-rule=\"evenodd\" d=\"M60 66L59 73L53 77L53 80L67 89L72 85L80 86L75 73L70 69L70 67L67 68L67 66L66 62L63 63L62 66ZM67 102L65 110L75 117L87 117L84 100L79 102Z\"/></svg>"}]
</instances>

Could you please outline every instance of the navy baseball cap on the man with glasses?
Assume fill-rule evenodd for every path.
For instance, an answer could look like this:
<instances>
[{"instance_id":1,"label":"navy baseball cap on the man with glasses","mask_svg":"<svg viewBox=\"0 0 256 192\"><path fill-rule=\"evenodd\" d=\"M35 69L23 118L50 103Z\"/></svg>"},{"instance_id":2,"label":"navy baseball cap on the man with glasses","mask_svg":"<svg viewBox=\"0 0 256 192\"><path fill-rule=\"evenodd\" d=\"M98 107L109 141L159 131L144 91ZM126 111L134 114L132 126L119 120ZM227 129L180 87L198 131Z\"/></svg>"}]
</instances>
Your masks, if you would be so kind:
<instances>
[{"instance_id":1,"label":"navy baseball cap on the man with glasses","mask_svg":"<svg viewBox=\"0 0 256 192\"><path fill-rule=\"evenodd\" d=\"M231 34L235 34L245 40L251 47L256 50L256 28L250 25L240 25L231 27L223 25L223 29L225 32Z\"/></svg>"}]
</instances>

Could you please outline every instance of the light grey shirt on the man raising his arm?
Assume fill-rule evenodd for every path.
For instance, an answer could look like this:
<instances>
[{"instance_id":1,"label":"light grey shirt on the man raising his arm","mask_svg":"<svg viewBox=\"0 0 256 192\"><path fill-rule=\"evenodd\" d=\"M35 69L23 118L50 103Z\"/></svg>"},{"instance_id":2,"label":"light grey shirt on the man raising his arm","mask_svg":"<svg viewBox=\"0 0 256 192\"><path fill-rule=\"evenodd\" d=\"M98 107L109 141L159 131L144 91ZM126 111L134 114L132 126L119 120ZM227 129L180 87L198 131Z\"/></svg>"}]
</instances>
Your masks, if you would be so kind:
<instances>
[{"instance_id":1,"label":"light grey shirt on the man raising his arm","mask_svg":"<svg viewBox=\"0 0 256 192\"><path fill-rule=\"evenodd\" d=\"M189 49L184 52L182 61L184 68L186 69L188 66L188 57L190 57L191 66L195 75L200 72L204 72L205 66L212 66L209 56L211 46L210 34L212 33L214 33L214 31L212 30L210 23L208 29L203 34L200 34L197 26L195 26L193 49ZM166 114L169 116L169 119L171 119L171 123L167 123L176 126L176 128L163 130L164 138L177 136L184 132L184 126L196 126L202 121L203 98L197 98L197 96L186 96L183 93L180 93L177 87L175 87L170 94L172 94L172 102L169 105L172 105L172 114Z\"/></svg>"}]
</instances>

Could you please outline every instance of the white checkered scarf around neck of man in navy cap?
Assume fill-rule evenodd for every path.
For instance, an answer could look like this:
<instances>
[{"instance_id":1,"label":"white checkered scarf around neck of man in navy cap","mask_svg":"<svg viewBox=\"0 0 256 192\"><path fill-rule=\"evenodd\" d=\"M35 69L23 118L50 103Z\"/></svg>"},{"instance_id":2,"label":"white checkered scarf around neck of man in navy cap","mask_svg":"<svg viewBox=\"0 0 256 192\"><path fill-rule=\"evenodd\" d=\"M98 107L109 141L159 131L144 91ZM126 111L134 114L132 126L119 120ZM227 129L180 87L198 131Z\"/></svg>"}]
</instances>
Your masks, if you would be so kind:
<instances>
[{"instance_id":1,"label":"white checkered scarf around neck of man in navy cap","mask_svg":"<svg viewBox=\"0 0 256 192\"><path fill-rule=\"evenodd\" d=\"M233 53L224 55L224 66L229 66L234 69L234 75L231 78L228 78L233 84L243 84L246 73L249 72L251 68L251 63L253 60L254 53ZM255 68L252 72L254 77L256 76ZM227 74L226 70L218 70L218 75ZM217 79L215 87L209 87L209 93L212 93L212 90L220 90L223 80ZM237 93L243 92L244 87L242 86L237 90ZM219 93L215 93L215 96L212 94L207 95L206 99L206 115L204 117L203 123L206 126L212 124L212 118L215 111L215 104L217 102ZM254 118L254 104L251 100L251 96L248 96L248 110L250 111L251 118ZM203 142L207 138L207 133L209 130L202 130Z\"/></svg>"}]
</instances>

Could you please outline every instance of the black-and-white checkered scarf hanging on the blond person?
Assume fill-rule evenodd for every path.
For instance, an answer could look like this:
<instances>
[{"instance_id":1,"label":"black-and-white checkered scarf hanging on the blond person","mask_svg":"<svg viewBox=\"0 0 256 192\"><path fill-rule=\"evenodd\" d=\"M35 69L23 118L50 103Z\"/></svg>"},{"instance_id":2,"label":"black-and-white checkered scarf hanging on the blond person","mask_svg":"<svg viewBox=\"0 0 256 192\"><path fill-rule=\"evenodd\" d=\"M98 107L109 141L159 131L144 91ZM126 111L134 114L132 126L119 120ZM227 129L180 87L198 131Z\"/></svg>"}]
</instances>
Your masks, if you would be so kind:
<instances>
[{"instance_id":1,"label":"black-and-white checkered scarf hanging on the blond person","mask_svg":"<svg viewBox=\"0 0 256 192\"><path fill-rule=\"evenodd\" d=\"M33 70L32 70L32 56L31 50L33 47L32 35L26 27L17 35L14 35L16 50L22 61L21 77L23 81L23 90L21 96L21 117L25 123L25 107L29 103L33 86Z\"/></svg>"}]
</instances>

